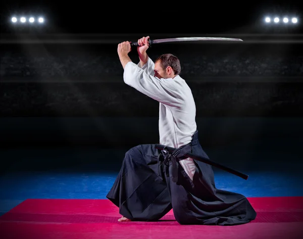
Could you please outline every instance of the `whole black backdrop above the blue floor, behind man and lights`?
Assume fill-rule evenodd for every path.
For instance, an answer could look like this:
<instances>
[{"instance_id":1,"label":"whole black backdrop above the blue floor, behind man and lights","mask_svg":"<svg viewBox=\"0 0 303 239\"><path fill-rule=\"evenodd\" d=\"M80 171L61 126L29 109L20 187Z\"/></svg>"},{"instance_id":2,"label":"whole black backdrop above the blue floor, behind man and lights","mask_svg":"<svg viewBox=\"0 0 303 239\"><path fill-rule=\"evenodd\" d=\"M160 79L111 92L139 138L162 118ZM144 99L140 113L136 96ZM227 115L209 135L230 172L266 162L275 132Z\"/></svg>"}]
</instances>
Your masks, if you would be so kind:
<instances>
[{"instance_id":1,"label":"whole black backdrop above the blue floor, behind man and lights","mask_svg":"<svg viewBox=\"0 0 303 239\"><path fill-rule=\"evenodd\" d=\"M112 150L158 143L159 103L124 84L117 44L146 35L226 36L244 42L162 44L148 54L180 58L204 148L284 150L300 157L303 19L298 4L32 2L1 3L3 150ZM45 23L10 23L12 15L28 12L41 14ZM281 12L296 15L298 24L264 24L266 14ZM135 49L130 56L138 62ZM7 163L14 161L18 158ZM56 164L69 163L66 157Z\"/></svg>"}]
</instances>

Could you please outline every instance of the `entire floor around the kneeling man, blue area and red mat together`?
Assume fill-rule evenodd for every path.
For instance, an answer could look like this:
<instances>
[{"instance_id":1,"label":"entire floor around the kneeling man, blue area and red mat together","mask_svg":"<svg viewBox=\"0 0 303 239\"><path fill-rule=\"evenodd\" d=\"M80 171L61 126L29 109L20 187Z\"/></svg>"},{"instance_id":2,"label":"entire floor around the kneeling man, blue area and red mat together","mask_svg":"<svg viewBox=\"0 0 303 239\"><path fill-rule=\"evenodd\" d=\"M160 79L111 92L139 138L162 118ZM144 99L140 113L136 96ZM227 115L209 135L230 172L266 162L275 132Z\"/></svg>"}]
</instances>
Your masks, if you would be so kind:
<instances>
[{"instance_id":1,"label":"entire floor around the kneeling man, blue area and red mat together","mask_svg":"<svg viewBox=\"0 0 303 239\"><path fill-rule=\"evenodd\" d=\"M289 150L281 148L208 150L212 158L229 155L231 159L225 159L225 165L249 176L244 180L214 168L217 188L244 194L258 213L248 224L220 227L179 225L172 211L159 222L118 223L119 210L106 194L122 157L100 164L108 151L3 150L4 158L22 160L15 160L1 175L2 238L299 238L303 228L303 162L298 153L290 156ZM125 149L115 153L123 156ZM66 157L74 163L59 166Z\"/></svg>"}]
</instances>

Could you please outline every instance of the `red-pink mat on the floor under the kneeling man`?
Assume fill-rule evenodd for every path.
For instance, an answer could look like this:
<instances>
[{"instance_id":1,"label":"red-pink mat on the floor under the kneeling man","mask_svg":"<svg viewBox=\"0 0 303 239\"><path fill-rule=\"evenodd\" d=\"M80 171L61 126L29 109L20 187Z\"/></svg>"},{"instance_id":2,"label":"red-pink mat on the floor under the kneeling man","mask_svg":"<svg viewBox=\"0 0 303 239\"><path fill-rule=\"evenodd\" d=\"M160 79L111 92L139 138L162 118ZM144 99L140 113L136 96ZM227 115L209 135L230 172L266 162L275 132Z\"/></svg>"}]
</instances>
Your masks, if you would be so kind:
<instances>
[{"instance_id":1,"label":"red-pink mat on the floor under the kneeling man","mask_svg":"<svg viewBox=\"0 0 303 239\"><path fill-rule=\"evenodd\" d=\"M180 225L170 211L159 222L118 222L109 200L28 199L0 217L2 239L296 239L303 235L303 197L248 198L257 211L236 226Z\"/></svg>"}]
</instances>

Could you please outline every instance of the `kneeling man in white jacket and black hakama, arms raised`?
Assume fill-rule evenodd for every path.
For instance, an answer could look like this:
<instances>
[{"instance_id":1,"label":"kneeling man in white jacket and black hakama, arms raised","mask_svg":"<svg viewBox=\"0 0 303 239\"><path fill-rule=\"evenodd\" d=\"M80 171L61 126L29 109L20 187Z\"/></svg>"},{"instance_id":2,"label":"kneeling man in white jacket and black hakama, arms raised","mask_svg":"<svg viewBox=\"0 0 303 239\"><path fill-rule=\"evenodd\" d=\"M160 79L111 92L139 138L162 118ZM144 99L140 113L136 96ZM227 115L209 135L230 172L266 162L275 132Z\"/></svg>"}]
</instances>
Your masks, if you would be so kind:
<instances>
[{"instance_id":1,"label":"kneeling man in white jacket and black hakama, arms raised","mask_svg":"<svg viewBox=\"0 0 303 239\"><path fill-rule=\"evenodd\" d=\"M198 141L194 99L179 75L179 59L164 54L154 63L146 53L148 39L138 39L138 64L128 56L129 42L118 45L124 82L160 103L160 144L176 150L170 154L144 144L125 153L107 195L119 207L118 221L155 221L171 209L180 224L236 225L254 220L256 212L245 196L217 189L212 167L184 156L191 152L208 158Z\"/></svg>"}]
</instances>

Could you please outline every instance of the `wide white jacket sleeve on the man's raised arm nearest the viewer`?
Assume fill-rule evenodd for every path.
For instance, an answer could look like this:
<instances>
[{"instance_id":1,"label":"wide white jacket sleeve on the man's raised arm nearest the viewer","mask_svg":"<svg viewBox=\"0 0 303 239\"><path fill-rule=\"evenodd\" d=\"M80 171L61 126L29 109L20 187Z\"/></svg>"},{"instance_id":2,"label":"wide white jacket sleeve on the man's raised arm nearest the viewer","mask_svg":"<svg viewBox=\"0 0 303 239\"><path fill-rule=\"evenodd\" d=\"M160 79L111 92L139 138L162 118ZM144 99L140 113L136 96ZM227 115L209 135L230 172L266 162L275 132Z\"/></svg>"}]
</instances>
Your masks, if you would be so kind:
<instances>
[{"instance_id":1,"label":"wide white jacket sleeve on the man's raised arm nearest the viewer","mask_svg":"<svg viewBox=\"0 0 303 239\"><path fill-rule=\"evenodd\" d=\"M123 79L125 84L163 104L178 106L182 101L174 79L159 79L131 61L124 68Z\"/></svg>"}]
</instances>

